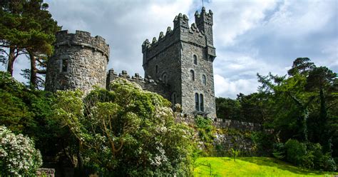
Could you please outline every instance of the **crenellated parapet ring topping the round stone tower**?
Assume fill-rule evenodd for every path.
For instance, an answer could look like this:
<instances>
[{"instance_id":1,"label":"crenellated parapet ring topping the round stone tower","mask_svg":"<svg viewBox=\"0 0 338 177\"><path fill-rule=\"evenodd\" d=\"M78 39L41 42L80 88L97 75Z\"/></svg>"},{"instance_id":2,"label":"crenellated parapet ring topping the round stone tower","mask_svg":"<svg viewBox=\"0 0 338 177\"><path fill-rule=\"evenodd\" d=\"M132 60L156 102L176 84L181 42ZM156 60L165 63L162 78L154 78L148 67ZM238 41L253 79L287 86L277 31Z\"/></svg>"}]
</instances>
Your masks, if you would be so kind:
<instances>
[{"instance_id":1,"label":"crenellated parapet ring topping the round stone tower","mask_svg":"<svg viewBox=\"0 0 338 177\"><path fill-rule=\"evenodd\" d=\"M87 31L76 30L75 34L68 33L68 30L58 31L56 33L56 42L54 46L81 46L82 48L91 48L94 51L101 52L109 58L109 45L106 40L101 36L91 36Z\"/></svg>"}]
</instances>

